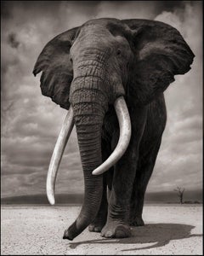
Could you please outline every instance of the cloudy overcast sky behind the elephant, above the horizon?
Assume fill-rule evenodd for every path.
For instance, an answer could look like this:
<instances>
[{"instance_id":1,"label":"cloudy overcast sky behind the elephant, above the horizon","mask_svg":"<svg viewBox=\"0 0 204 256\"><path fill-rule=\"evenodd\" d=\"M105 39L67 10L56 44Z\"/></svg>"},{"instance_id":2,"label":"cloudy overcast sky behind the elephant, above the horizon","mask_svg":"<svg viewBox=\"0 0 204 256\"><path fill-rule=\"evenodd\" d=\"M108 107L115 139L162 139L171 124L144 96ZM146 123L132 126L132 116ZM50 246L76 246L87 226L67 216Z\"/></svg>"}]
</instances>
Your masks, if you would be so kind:
<instances>
[{"instance_id":1,"label":"cloudy overcast sky behind the elephant, above the horizon","mask_svg":"<svg viewBox=\"0 0 204 256\"><path fill-rule=\"evenodd\" d=\"M2 2L1 2L2 3ZM189 73L165 92L167 127L148 191L202 187L201 1L5 1L2 5L2 196L45 194L48 164L66 111L42 96L37 56L61 32L101 17L160 20L195 54ZM65 149L57 193L83 193L76 131Z\"/></svg>"}]
</instances>

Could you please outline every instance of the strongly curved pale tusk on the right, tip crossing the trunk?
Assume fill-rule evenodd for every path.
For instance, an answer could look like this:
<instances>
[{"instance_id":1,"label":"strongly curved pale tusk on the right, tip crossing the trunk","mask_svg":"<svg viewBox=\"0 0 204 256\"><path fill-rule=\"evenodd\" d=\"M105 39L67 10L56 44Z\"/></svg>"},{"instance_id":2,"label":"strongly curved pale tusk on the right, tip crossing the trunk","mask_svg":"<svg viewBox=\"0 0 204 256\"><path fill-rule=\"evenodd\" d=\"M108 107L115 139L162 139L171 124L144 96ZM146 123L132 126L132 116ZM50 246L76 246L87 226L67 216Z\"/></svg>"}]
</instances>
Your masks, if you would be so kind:
<instances>
[{"instance_id":1,"label":"strongly curved pale tusk on the right, tip crossing the trunk","mask_svg":"<svg viewBox=\"0 0 204 256\"><path fill-rule=\"evenodd\" d=\"M119 141L116 145L115 150L112 152L110 157L105 160L105 162L97 167L92 174L99 175L103 172L108 171L111 166L115 165L116 162L122 157L122 154L125 153L130 137L131 137L131 122L127 109L126 102L123 96L120 96L116 99L114 103L114 107L116 109L117 119L119 121L120 126L120 137Z\"/></svg>"}]
</instances>

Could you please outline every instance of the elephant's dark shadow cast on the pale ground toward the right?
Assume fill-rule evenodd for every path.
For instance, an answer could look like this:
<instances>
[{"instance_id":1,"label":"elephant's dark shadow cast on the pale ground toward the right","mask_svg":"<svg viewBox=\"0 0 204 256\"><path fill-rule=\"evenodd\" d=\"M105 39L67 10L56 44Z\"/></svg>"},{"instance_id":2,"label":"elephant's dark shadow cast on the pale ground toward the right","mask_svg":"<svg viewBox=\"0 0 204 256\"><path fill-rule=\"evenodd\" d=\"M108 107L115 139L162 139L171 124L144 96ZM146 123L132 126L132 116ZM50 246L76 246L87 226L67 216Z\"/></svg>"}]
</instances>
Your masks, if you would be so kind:
<instances>
[{"instance_id":1,"label":"elephant's dark shadow cast on the pale ground toward the right","mask_svg":"<svg viewBox=\"0 0 204 256\"><path fill-rule=\"evenodd\" d=\"M190 231L195 228L192 225L186 224L146 224L143 227L134 227L132 230L132 236L121 239L96 239L80 242L71 242L71 249L76 248L79 245L84 244L147 244L154 243L147 247L134 247L130 249L122 250L133 251L141 249L150 249L156 247L163 247L171 240L178 240L184 238L190 238L193 236L202 236L201 234L190 234Z\"/></svg>"}]
</instances>

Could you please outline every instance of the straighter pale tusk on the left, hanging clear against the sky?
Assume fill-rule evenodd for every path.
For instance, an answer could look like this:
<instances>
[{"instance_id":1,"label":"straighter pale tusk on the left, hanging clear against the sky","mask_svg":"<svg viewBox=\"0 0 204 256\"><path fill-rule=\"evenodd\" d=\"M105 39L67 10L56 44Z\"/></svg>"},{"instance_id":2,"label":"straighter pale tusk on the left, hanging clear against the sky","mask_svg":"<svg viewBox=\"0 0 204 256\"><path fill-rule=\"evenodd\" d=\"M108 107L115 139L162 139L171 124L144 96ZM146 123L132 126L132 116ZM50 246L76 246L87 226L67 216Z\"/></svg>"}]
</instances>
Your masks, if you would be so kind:
<instances>
[{"instance_id":1,"label":"straighter pale tusk on the left, hanging clear against the sky","mask_svg":"<svg viewBox=\"0 0 204 256\"><path fill-rule=\"evenodd\" d=\"M54 205L54 203L55 203L55 200L54 200L55 180L57 177L59 164L60 164L62 155L65 150L65 145L71 135L73 126L74 126L73 108L70 107L68 113L66 114L61 131L59 132L59 137L55 144L54 152L53 152L52 158L49 163L49 168L48 168L46 189L47 189L48 201L51 205Z\"/></svg>"}]
</instances>

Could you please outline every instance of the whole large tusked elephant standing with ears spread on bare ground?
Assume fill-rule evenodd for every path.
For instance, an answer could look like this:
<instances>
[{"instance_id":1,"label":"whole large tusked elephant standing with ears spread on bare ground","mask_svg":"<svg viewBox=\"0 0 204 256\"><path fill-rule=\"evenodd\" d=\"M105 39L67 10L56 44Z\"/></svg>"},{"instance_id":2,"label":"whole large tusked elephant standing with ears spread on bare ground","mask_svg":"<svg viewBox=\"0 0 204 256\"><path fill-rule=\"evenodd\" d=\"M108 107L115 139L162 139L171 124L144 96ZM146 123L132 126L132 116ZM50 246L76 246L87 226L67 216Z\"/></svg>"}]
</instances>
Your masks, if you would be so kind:
<instances>
[{"instance_id":1,"label":"whole large tusked elephant standing with ears spread on bare ground","mask_svg":"<svg viewBox=\"0 0 204 256\"><path fill-rule=\"evenodd\" d=\"M88 20L44 46L33 74L42 72L42 95L68 110L48 168L50 204L73 125L84 177L81 212L64 239L87 227L124 238L144 225L144 195L167 121L163 92L194 57L176 28L143 19Z\"/></svg>"}]
</instances>

